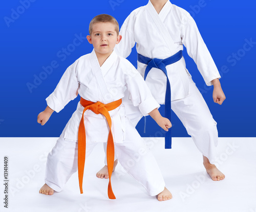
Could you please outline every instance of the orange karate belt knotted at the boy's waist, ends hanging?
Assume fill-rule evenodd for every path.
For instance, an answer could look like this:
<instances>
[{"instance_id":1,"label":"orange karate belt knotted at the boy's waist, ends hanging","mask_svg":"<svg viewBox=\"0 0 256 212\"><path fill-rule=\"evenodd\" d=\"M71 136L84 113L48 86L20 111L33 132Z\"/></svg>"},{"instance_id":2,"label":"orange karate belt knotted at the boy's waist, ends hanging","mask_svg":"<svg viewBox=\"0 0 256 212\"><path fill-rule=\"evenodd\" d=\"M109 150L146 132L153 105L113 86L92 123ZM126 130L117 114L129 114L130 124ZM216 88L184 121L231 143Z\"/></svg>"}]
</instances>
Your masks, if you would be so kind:
<instances>
[{"instance_id":1,"label":"orange karate belt knotted at the boy's waist, ends hanging","mask_svg":"<svg viewBox=\"0 0 256 212\"><path fill-rule=\"evenodd\" d=\"M108 145L106 146L106 161L108 163L108 171L109 171L109 178L110 178L109 186L108 186L108 195L110 199L116 199L111 186L111 175L114 167L115 148L114 148L113 135L111 131L112 122L111 122L109 111L119 107L122 104L122 99L104 105L101 102L95 103L95 102L90 102L81 98L80 104L84 107L80 125L78 128L78 178L79 178L80 192L81 194L83 193L82 179L83 179L84 162L86 161L86 129L84 128L83 114L86 110L90 109L96 114L101 113L102 115L104 115L110 127Z\"/></svg>"}]
</instances>

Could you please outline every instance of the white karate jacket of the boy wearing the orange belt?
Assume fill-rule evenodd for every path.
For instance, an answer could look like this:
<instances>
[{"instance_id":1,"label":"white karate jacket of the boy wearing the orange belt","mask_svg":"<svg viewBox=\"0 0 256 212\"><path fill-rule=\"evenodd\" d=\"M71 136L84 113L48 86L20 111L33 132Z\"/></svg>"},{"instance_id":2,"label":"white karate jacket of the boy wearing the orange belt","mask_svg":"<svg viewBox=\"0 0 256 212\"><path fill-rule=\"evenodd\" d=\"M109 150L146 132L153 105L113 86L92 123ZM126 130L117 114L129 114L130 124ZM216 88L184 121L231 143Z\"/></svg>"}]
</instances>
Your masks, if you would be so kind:
<instances>
[{"instance_id":1,"label":"white karate jacket of the boy wearing the orange belt","mask_svg":"<svg viewBox=\"0 0 256 212\"><path fill-rule=\"evenodd\" d=\"M51 109L59 112L69 101L77 97L77 90L80 97L85 100L108 104L123 98L125 89L129 90L134 106L138 106L143 115L160 107L141 75L128 60L117 56L113 51L100 67L93 50L91 54L81 56L67 68L46 101ZM64 138L77 141L83 108L79 102L62 132ZM125 138L124 106L121 104L109 113L114 142L122 143ZM102 114L87 110L84 112L84 126L87 142L107 142L109 126Z\"/></svg>"}]
</instances>

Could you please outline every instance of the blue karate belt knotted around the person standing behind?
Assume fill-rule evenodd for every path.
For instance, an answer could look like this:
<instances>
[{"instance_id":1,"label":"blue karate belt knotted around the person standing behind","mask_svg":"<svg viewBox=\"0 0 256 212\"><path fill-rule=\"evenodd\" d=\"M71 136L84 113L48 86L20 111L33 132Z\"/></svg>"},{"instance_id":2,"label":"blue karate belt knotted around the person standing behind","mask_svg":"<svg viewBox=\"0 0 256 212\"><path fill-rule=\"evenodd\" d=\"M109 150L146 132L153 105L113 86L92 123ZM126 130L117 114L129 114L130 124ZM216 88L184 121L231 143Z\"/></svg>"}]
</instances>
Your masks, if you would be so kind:
<instances>
[{"instance_id":1,"label":"blue karate belt knotted around the person standing behind","mask_svg":"<svg viewBox=\"0 0 256 212\"><path fill-rule=\"evenodd\" d=\"M146 80L146 76L148 72L152 68L159 68L163 71L167 78L166 82L166 92L165 92L165 117L170 120L170 82L167 76L167 70L166 65L173 64L177 61L179 61L182 58L182 51L177 52L175 55L170 56L166 59L158 59L158 58L148 58L144 57L140 54L138 54L138 61L141 63L146 64L145 74L144 74L144 80ZM172 148L172 130L171 128L168 130L167 133L165 133L165 149L171 149Z\"/></svg>"}]
</instances>

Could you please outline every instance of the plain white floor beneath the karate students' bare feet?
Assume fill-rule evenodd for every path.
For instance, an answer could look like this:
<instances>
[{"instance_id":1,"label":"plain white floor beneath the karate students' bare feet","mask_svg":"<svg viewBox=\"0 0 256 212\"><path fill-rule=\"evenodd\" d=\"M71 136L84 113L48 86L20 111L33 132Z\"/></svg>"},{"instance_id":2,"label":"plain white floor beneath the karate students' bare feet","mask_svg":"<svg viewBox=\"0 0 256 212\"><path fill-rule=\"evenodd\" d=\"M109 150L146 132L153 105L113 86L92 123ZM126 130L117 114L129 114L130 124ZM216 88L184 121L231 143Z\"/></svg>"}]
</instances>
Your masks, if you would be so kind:
<instances>
[{"instance_id":1,"label":"plain white floor beneath the karate students' bare feet","mask_svg":"<svg viewBox=\"0 0 256 212\"><path fill-rule=\"evenodd\" d=\"M226 175L212 181L191 138L145 138L162 170L173 199L159 202L117 166L112 177L116 200L107 196L108 180L96 178L104 152L98 144L86 160L83 194L74 174L65 189L52 196L38 193L44 184L46 157L56 138L0 138L0 211L197 211L256 212L256 138L219 138L218 167ZM9 204L4 208L4 156L9 158Z\"/></svg>"}]
</instances>

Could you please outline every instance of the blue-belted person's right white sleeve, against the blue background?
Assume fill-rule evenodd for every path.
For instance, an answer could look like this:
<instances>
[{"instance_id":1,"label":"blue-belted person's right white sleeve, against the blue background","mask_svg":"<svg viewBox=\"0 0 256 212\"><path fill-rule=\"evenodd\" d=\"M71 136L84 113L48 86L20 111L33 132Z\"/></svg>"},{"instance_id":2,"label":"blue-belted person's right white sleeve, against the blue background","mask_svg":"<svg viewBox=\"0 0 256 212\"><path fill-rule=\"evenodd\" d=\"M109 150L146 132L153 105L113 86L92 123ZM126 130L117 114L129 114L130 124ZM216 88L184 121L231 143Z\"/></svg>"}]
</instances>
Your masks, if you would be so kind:
<instances>
[{"instance_id":1,"label":"blue-belted person's right white sleeve, against the blue background","mask_svg":"<svg viewBox=\"0 0 256 212\"><path fill-rule=\"evenodd\" d=\"M206 85L210 86L212 85L212 80L221 78L221 76L207 49L207 46L203 41L195 20L188 12L186 13L187 14L183 16L182 20L182 43L186 47L188 55L197 64L198 70L201 73Z\"/></svg>"}]
</instances>

